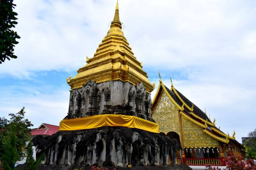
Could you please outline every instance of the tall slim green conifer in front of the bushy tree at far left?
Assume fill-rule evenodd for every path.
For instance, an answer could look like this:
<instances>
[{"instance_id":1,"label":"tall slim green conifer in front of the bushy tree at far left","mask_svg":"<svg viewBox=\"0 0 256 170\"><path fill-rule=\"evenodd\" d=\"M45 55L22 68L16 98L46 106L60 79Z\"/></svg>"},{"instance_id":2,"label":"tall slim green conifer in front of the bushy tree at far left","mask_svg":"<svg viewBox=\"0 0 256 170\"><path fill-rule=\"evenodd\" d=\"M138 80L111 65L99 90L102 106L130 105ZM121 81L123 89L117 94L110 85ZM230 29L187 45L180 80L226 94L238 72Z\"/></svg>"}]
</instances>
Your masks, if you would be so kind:
<instances>
[{"instance_id":1,"label":"tall slim green conifer in front of the bushy tree at far left","mask_svg":"<svg viewBox=\"0 0 256 170\"><path fill-rule=\"evenodd\" d=\"M4 145L3 153L3 168L4 170L13 170L14 165L17 161L17 151L16 147L16 127L11 126L11 131L7 132L8 137L6 138L6 143Z\"/></svg>"}]
</instances>

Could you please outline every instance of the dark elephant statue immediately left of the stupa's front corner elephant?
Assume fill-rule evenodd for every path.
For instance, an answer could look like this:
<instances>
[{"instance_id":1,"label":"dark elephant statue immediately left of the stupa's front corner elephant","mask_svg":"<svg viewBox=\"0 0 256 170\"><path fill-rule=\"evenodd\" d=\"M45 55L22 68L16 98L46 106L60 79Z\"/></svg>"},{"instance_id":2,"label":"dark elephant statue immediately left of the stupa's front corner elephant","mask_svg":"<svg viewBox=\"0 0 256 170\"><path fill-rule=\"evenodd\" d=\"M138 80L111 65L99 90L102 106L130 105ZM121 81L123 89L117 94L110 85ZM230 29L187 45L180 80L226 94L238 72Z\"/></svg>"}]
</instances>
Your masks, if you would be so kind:
<instances>
[{"instance_id":1,"label":"dark elephant statue immediately left of the stupa's front corner elephant","mask_svg":"<svg viewBox=\"0 0 256 170\"><path fill-rule=\"evenodd\" d=\"M84 135L83 142L84 145L87 146L87 165L97 166L98 158L103 150L101 133L96 130L89 131L86 135ZM86 160L84 160L84 162L86 162Z\"/></svg>"}]
</instances>

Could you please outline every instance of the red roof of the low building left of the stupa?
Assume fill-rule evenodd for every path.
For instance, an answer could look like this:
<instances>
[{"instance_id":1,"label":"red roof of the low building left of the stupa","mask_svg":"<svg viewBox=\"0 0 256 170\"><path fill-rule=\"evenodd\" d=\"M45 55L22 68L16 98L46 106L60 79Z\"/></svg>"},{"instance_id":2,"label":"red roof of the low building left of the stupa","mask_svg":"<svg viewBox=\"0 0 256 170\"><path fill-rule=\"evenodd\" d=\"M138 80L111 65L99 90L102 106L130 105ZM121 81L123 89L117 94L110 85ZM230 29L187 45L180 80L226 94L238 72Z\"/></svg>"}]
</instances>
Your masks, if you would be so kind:
<instances>
[{"instance_id":1,"label":"red roof of the low building left of the stupa","mask_svg":"<svg viewBox=\"0 0 256 170\"><path fill-rule=\"evenodd\" d=\"M41 126L45 126L46 129L40 129ZM42 123L38 128L35 128L35 129L31 130L31 135L32 136L35 136L35 135L51 136L52 134L54 134L58 131L59 131L59 126Z\"/></svg>"}]
</instances>

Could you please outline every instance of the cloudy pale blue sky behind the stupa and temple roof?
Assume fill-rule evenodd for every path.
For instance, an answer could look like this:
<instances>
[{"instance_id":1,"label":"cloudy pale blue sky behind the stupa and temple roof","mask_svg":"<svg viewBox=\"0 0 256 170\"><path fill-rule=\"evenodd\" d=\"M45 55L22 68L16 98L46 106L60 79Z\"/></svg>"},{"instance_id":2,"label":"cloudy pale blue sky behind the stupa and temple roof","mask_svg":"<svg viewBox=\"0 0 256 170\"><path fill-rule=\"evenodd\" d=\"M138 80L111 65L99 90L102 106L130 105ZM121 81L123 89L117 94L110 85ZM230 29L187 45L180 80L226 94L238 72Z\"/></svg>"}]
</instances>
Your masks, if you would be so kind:
<instances>
[{"instance_id":1,"label":"cloudy pale blue sky behind the stupa and temple roof","mask_svg":"<svg viewBox=\"0 0 256 170\"><path fill-rule=\"evenodd\" d=\"M67 115L66 78L93 57L109 30L116 0L14 0L17 59L0 65L0 116L25 106L37 128ZM151 83L174 87L216 119L225 133L254 129L254 0L119 0L123 32ZM151 93L154 97L156 89Z\"/></svg>"}]
</instances>

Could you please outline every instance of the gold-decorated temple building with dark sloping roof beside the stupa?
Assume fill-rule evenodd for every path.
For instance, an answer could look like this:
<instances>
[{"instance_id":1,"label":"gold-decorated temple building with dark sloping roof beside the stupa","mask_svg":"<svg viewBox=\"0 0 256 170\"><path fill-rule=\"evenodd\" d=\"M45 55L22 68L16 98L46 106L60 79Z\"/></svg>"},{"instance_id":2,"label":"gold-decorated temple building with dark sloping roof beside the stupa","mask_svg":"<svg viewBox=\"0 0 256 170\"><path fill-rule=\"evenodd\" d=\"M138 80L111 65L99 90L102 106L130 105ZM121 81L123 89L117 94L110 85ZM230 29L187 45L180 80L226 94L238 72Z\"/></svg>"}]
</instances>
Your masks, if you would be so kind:
<instances>
[{"instance_id":1,"label":"gold-decorated temple building with dark sloping roof beside the stupa","mask_svg":"<svg viewBox=\"0 0 256 170\"><path fill-rule=\"evenodd\" d=\"M181 142L182 159L188 165L225 165L227 149L244 156L244 147L235 139L235 132L230 136L216 128L215 119L211 121L174 88L172 81L171 88L166 87L161 77L152 103L152 118L159 124L160 133Z\"/></svg>"}]
</instances>

